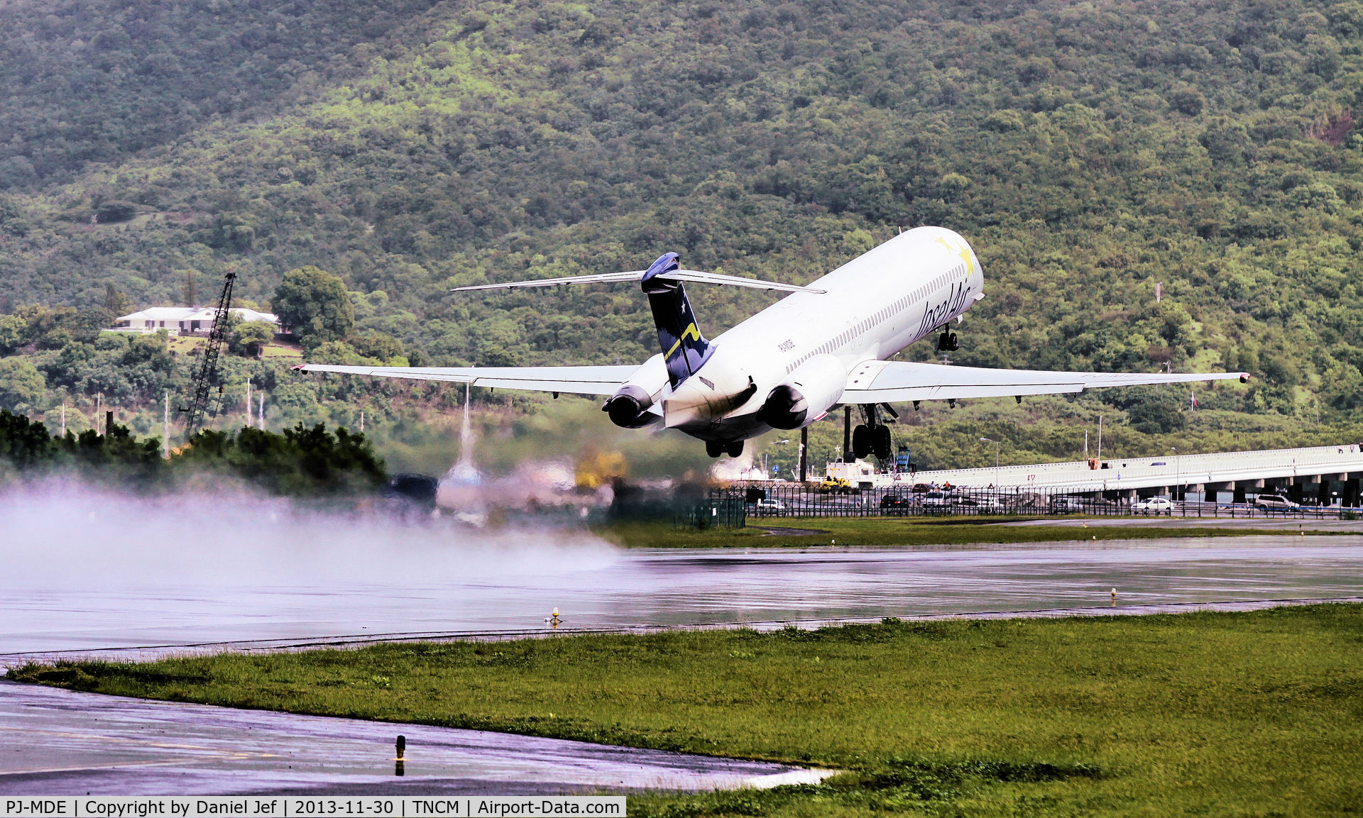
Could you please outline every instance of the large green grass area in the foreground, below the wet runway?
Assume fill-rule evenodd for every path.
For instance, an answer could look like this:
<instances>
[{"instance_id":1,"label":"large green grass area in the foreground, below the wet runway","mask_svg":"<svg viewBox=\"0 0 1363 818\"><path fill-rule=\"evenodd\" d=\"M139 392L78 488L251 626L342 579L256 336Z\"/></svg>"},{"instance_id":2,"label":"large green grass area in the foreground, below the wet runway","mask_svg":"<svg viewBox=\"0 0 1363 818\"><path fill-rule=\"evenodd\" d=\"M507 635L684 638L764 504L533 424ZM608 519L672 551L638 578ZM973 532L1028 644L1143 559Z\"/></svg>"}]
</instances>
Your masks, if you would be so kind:
<instances>
[{"instance_id":1,"label":"large green grass area in the foreground, below the wet runway","mask_svg":"<svg viewBox=\"0 0 1363 818\"><path fill-rule=\"evenodd\" d=\"M634 815L1349 815L1363 606L27 666L102 693L848 770Z\"/></svg>"}]
</instances>

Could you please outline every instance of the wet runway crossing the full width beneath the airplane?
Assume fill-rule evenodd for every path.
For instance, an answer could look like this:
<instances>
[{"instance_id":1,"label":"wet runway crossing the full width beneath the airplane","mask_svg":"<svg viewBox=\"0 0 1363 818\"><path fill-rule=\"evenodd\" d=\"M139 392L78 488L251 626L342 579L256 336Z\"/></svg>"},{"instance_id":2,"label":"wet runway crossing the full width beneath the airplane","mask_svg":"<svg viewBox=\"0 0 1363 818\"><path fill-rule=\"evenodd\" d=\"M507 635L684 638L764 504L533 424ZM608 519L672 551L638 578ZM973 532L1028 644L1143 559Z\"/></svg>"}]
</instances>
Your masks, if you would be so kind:
<instances>
[{"instance_id":1,"label":"wet runway crossing the full width beneath the airplane","mask_svg":"<svg viewBox=\"0 0 1363 818\"><path fill-rule=\"evenodd\" d=\"M217 570L108 583L0 572L0 664L22 655L383 633L800 622L1363 595L1363 538L1244 536L942 549L617 550L450 538L386 562L286 565L259 553ZM465 535L458 535L465 536ZM541 534L526 536L544 536ZM52 573L61 573L52 563ZM136 565L134 566L136 568ZM79 572L76 572L79 573Z\"/></svg>"}]
</instances>

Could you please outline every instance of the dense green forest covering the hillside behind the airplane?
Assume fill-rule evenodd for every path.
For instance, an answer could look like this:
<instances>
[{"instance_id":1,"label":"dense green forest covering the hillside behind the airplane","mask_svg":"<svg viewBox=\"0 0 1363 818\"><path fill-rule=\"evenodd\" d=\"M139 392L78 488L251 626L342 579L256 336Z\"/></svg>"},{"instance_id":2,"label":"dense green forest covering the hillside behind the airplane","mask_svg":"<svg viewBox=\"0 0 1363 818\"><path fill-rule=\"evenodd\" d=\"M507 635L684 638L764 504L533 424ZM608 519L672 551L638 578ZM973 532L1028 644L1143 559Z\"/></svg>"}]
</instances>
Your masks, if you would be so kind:
<instances>
[{"instance_id":1,"label":"dense green forest covering the hillside behind the airplane","mask_svg":"<svg viewBox=\"0 0 1363 818\"><path fill-rule=\"evenodd\" d=\"M984 264L961 363L1257 376L1197 412L983 404L1017 436L1069 406L1235 445L1363 403L1363 3L12 0L0 31L0 404L30 414L113 389L150 425L189 361L91 329L229 267L260 306L339 276L315 359L609 363L654 351L628 287L447 289L664 250L804 282L921 223ZM713 335L771 297L695 301ZM454 403L229 369L282 422Z\"/></svg>"}]
</instances>

